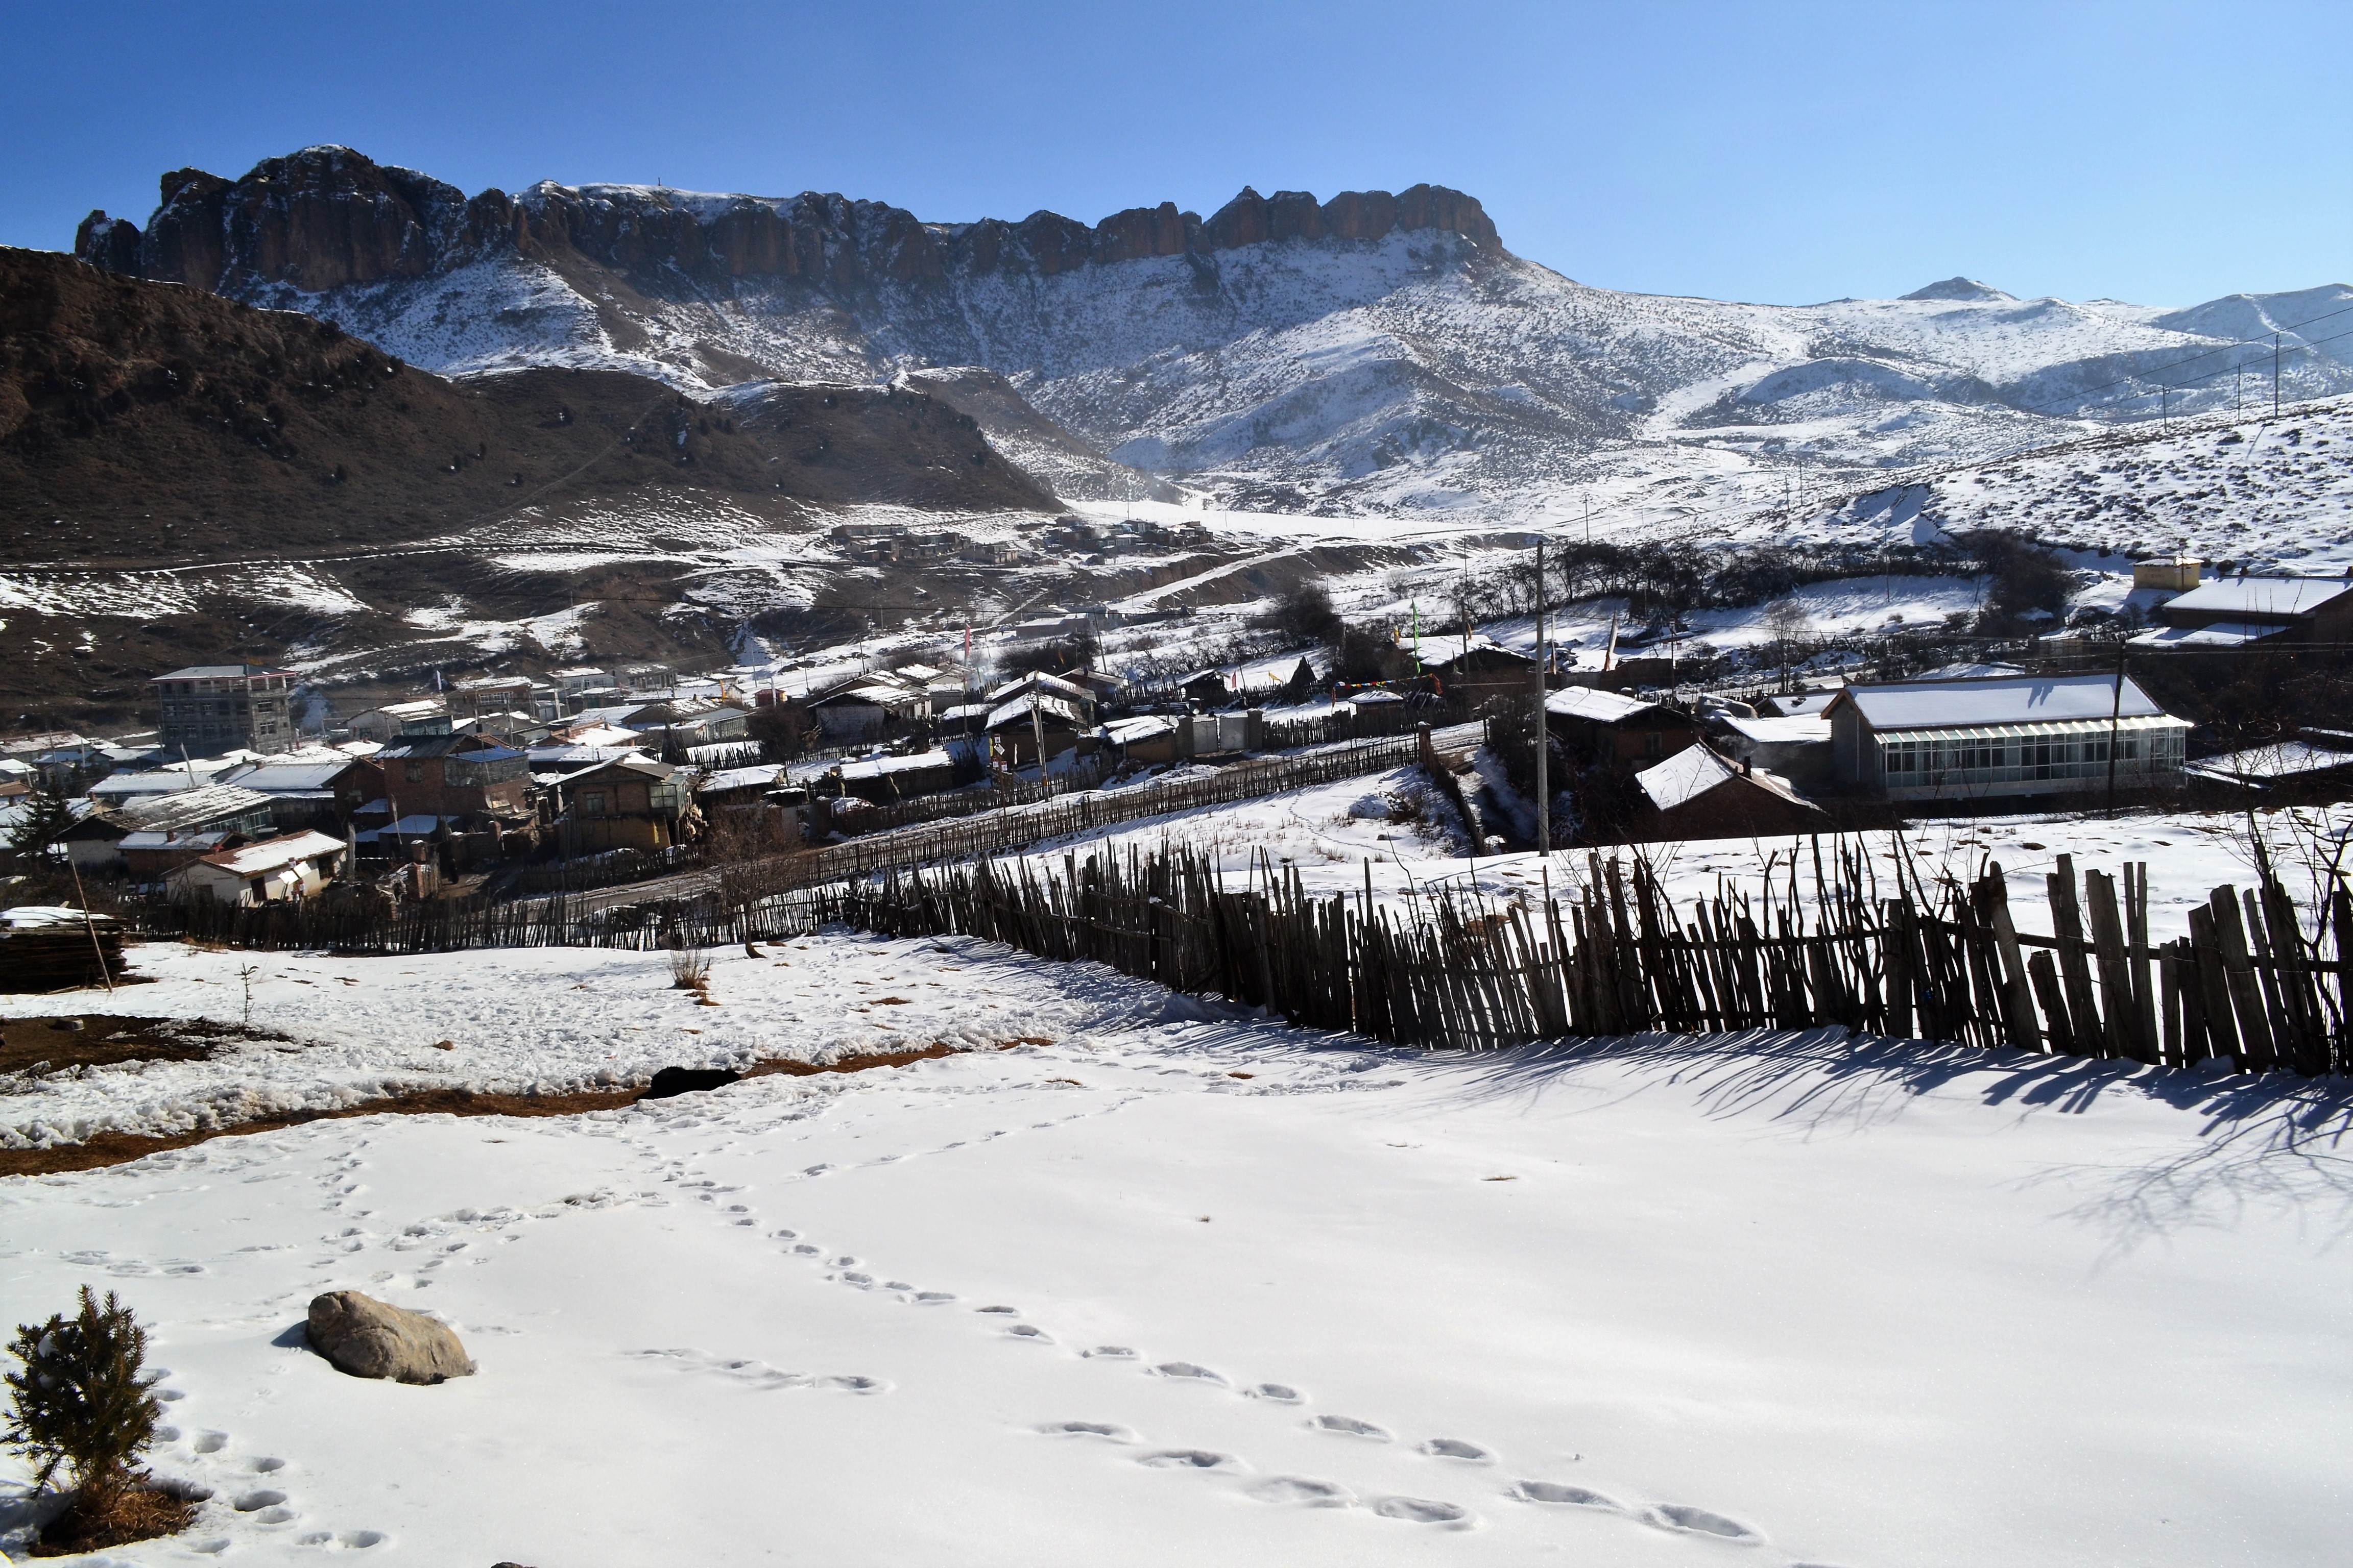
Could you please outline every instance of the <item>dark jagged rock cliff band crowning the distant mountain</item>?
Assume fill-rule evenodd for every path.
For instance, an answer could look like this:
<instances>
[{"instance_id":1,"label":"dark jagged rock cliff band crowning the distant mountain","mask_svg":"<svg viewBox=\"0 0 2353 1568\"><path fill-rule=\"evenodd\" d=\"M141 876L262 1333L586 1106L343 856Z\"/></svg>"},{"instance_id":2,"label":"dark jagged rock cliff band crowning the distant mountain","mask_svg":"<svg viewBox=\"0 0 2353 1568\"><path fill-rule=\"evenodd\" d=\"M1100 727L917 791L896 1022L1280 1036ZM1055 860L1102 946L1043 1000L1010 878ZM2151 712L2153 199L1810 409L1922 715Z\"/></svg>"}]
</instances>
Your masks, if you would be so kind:
<instances>
[{"instance_id":1,"label":"dark jagged rock cliff band crowning the distant mountain","mask_svg":"<svg viewBox=\"0 0 2353 1568\"><path fill-rule=\"evenodd\" d=\"M840 195L689 195L647 186L558 186L466 197L428 174L376 165L339 146L304 148L228 181L202 169L162 176L146 230L92 212L73 254L111 273L216 294L282 284L322 294L386 277L426 277L489 254L551 263L586 259L633 277L675 273L699 284L802 280L856 292L951 273L1056 275L1153 256L1280 240L1379 240L1393 230L1457 233L1499 249L1478 200L1445 186L1306 190L1242 188L1202 221L1174 202L1129 207L1096 226L1056 212L1019 223L925 223L882 202Z\"/></svg>"}]
</instances>

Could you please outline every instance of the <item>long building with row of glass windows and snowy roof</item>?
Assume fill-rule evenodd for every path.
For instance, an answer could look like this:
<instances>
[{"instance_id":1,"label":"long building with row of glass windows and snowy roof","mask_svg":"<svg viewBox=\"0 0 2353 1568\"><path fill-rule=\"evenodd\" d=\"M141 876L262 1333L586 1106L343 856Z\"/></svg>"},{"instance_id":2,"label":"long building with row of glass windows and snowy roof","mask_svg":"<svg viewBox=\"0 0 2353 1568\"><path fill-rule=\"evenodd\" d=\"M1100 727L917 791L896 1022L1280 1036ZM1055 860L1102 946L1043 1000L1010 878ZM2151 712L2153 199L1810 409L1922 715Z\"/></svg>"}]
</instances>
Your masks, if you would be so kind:
<instances>
[{"instance_id":1,"label":"long building with row of glass windows and snowy roof","mask_svg":"<svg viewBox=\"0 0 2353 1568\"><path fill-rule=\"evenodd\" d=\"M2118 675L1847 686L1824 717L1838 783L1882 799L2179 785L2191 731Z\"/></svg>"}]
</instances>

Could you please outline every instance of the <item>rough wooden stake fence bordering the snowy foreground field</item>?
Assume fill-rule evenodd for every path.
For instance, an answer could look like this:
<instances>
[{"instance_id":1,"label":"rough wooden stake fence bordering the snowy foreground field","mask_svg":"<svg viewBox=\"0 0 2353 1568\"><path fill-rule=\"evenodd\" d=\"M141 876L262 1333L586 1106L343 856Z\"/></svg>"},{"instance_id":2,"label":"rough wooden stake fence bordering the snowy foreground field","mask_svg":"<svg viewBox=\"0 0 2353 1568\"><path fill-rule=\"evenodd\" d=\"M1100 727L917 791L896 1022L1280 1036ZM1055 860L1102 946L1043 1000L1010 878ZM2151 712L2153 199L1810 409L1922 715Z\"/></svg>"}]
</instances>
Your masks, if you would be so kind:
<instances>
[{"instance_id":1,"label":"rough wooden stake fence bordering the snowy foreground field","mask_svg":"<svg viewBox=\"0 0 2353 1568\"><path fill-rule=\"evenodd\" d=\"M1064 856L762 896L579 912L407 905L179 905L153 933L242 947L445 952L461 947L711 947L852 924L974 936L1047 959L1092 959L1181 992L1266 1006L1294 1025L1442 1048L1652 1030L1845 1025L1897 1039L2245 1072L2344 1072L2353 1020L2353 893L2311 922L2278 879L2214 889L2188 936L2151 943L2148 867L2045 879L2054 936L2017 929L2009 884L1934 884L1904 863L1878 884L1864 849L1814 842L1812 898L1791 858L1758 896L1720 889L1680 912L1640 858L1588 853L1569 900L1428 891L1419 912L1367 893L1311 896L1264 853L1245 886L1191 849ZM2266 867L2268 872L2268 867Z\"/></svg>"}]
</instances>

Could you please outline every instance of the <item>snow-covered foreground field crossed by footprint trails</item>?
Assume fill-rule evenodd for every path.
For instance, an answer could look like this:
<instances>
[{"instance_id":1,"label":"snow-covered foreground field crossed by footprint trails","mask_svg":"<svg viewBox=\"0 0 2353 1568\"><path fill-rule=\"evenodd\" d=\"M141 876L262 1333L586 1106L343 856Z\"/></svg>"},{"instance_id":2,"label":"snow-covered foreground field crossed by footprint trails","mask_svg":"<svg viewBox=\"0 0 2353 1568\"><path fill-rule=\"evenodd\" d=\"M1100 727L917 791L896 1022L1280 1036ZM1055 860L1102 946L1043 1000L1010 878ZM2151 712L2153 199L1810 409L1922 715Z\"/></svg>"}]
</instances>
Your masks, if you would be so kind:
<instances>
[{"instance_id":1,"label":"snow-covered foreground field crossed by footprint trails","mask_svg":"<svg viewBox=\"0 0 2353 1568\"><path fill-rule=\"evenodd\" d=\"M106 1561L2334 1552L2334 1086L1842 1034L1424 1056L960 940L779 952L720 954L718 1009L661 954L264 957L256 1023L336 1044L235 1067L541 1081L882 1011L1054 1044L0 1182L9 1307L122 1291L155 1469L212 1488ZM233 1011L240 961L144 994ZM287 1331L341 1286L480 1375L334 1373Z\"/></svg>"}]
</instances>

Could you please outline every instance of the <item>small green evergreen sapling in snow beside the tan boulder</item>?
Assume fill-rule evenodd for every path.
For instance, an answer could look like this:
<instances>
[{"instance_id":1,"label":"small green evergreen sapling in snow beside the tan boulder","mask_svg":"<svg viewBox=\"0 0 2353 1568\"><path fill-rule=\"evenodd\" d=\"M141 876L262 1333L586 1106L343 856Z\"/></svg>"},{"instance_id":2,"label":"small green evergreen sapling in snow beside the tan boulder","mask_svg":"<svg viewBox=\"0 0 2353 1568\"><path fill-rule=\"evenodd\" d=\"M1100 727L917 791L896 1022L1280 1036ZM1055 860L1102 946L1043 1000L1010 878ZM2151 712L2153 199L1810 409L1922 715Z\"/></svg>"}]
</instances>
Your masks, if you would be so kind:
<instances>
[{"instance_id":1,"label":"small green evergreen sapling in snow beside the tan boulder","mask_svg":"<svg viewBox=\"0 0 2353 1568\"><path fill-rule=\"evenodd\" d=\"M49 1483L59 1467L73 1474L82 1507L104 1507L134 1481L132 1465L155 1441L162 1406L148 1394L160 1380L144 1371L146 1328L106 1293L106 1305L82 1286L75 1316L19 1324L9 1354L24 1361L7 1373L9 1427L0 1434Z\"/></svg>"}]
</instances>

